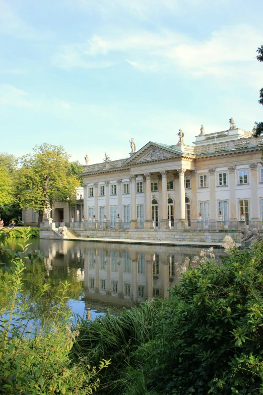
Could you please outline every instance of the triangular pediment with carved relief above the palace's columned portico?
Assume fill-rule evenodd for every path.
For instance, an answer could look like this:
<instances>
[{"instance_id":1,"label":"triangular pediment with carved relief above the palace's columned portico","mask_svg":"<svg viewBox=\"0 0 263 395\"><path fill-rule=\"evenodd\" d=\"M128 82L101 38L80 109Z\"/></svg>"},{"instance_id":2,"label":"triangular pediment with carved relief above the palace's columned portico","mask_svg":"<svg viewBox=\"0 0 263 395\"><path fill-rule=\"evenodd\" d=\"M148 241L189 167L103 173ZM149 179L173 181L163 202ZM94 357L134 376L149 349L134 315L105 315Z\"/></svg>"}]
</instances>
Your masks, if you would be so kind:
<instances>
[{"instance_id":1,"label":"triangular pediment with carved relief above the palace's columned portico","mask_svg":"<svg viewBox=\"0 0 263 395\"><path fill-rule=\"evenodd\" d=\"M139 151L135 152L125 161L125 164L148 162L149 160L165 159L172 156L181 156L182 153L169 145L162 145L150 141Z\"/></svg>"}]
</instances>

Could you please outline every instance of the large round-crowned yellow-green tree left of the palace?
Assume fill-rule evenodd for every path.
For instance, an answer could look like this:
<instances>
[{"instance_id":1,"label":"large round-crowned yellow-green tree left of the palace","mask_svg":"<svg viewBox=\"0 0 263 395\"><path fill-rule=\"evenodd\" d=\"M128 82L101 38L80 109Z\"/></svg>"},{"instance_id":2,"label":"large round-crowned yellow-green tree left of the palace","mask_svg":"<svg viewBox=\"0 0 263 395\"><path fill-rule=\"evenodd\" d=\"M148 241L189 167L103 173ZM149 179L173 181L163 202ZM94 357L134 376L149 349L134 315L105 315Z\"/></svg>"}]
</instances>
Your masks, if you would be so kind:
<instances>
[{"instance_id":1,"label":"large round-crowned yellow-green tree left of the palace","mask_svg":"<svg viewBox=\"0 0 263 395\"><path fill-rule=\"evenodd\" d=\"M44 208L56 200L74 204L79 179L71 173L70 155L62 146L43 143L35 145L20 158L17 192L21 208L38 212L38 226L43 219Z\"/></svg>"}]
</instances>

